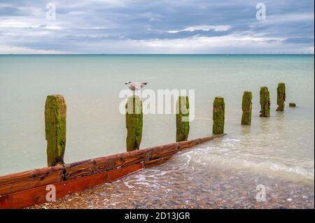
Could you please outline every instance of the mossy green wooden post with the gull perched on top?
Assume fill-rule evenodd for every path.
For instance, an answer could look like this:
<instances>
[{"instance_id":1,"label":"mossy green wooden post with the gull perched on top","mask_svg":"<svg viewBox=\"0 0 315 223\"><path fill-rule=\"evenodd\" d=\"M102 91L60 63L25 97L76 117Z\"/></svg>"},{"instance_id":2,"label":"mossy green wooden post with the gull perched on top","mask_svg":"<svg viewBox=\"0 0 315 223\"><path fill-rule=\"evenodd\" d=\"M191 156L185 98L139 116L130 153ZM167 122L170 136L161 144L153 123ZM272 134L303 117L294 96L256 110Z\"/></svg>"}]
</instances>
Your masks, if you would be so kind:
<instances>
[{"instance_id":1,"label":"mossy green wooden post with the gull perched on top","mask_svg":"<svg viewBox=\"0 0 315 223\"><path fill-rule=\"evenodd\" d=\"M129 96L126 103L127 151L139 150L142 138L143 113L139 96Z\"/></svg>"}]
</instances>

